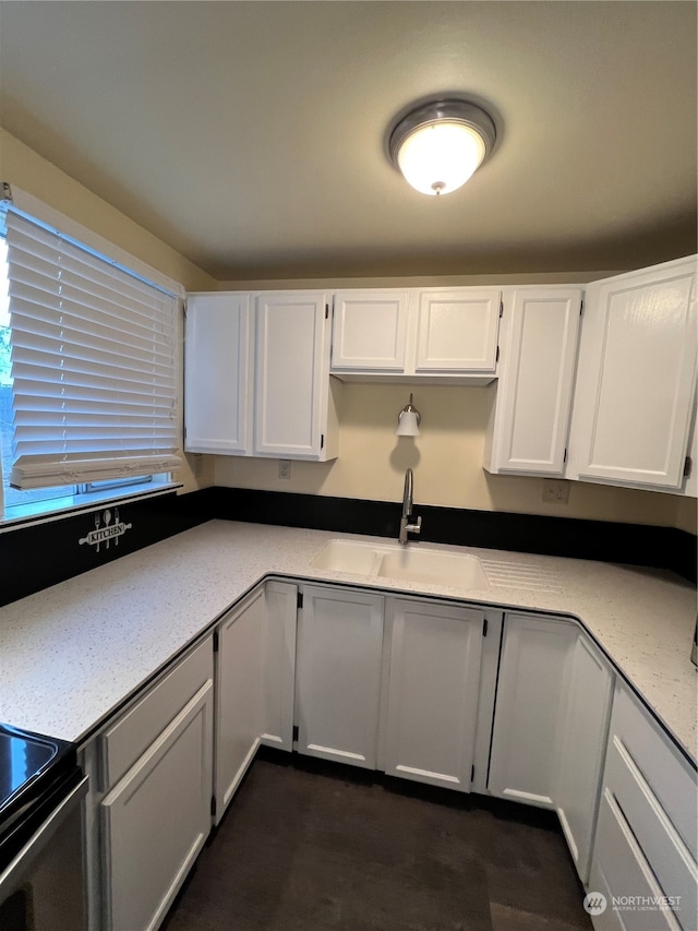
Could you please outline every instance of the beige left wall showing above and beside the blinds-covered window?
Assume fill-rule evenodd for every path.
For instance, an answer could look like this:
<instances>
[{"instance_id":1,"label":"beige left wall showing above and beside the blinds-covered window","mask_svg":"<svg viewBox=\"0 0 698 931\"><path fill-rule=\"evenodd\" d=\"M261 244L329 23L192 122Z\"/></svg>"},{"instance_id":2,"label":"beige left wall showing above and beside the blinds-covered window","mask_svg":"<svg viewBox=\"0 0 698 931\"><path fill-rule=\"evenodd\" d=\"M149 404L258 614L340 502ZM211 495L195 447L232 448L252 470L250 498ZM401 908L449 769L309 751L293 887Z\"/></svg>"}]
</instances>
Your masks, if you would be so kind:
<instances>
[{"instance_id":1,"label":"beige left wall showing above and beside the blinds-covered window","mask_svg":"<svg viewBox=\"0 0 698 931\"><path fill-rule=\"evenodd\" d=\"M74 178L41 158L0 128L0 181L13 184L69 216L98 236L179 282L188 290L216 290L217 282L179 252L139 226ZM205 456L185 456L176 476L184 491L213 481L213 463Z\"/></svg>"}]
</instances>

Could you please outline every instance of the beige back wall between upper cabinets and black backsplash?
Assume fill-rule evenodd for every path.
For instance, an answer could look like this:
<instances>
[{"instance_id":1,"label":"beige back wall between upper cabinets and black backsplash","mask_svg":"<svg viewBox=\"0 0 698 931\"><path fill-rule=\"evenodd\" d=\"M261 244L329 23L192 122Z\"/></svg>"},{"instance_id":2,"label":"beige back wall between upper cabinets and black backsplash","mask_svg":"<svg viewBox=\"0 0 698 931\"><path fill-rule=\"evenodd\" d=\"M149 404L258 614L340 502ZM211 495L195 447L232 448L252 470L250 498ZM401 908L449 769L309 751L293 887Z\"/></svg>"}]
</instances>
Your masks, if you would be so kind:
<instances>
[{"instance_id":1,"label":"beige back wall between upper cabinets and black backsplash","mask_svg":"<svg viewBox=\"0 0 698 931\"><path fill-rule=\"evenodd\" d=\"M410 391L422 415L417 439L395 435L397 414ZM551 504L542 501L541 478L485 473L484 439L494 391L494 386L346 383L335 462L293 462L288 480L279 479L277 459L217 456L215 484L399 501L410 466L420 504L681 526L696 533L696 502L676 496L573 481L569 503Z\"/></svg>"}]
</instances>

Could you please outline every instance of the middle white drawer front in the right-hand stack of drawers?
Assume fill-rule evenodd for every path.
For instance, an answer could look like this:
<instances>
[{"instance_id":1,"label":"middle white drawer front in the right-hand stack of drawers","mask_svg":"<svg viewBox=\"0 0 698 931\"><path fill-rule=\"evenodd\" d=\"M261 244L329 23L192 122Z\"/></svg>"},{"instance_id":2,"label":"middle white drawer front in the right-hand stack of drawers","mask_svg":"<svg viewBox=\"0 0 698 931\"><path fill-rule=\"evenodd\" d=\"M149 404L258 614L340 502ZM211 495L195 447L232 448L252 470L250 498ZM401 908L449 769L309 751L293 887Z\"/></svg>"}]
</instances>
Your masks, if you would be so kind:
<instances>
[{"instance_id":1,"label":"middle white drawer front in the right-hand stack of drawers","mask_svg":"<svg viewBox=\"0 0 698 931\"><path fill-rule=\"evenodd\" d=\"M687 931L695 928L696 861L617 737L609 745L605 784L663 894L678 899L675 917Z\"/></svg>"}]
</instances>

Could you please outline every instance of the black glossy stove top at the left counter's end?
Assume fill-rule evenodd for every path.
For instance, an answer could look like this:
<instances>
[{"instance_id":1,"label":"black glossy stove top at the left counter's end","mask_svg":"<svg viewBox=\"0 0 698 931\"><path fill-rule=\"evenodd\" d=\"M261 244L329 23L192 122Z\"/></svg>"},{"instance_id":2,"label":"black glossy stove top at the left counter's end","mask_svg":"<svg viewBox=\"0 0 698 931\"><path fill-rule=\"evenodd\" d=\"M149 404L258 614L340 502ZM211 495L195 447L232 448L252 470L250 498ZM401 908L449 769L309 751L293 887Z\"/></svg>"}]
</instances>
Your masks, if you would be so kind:
<instances>
[{"instance_id":1,"label":"black glossy stove top at the left counter's end","mask_svg":"<svg viewBox=\"0 0 698 931\"><path fill-rule=\"evenodd\" d=\"M0 724L0 872L79 778L75 744Z\"/></svg>"}]
</instances>

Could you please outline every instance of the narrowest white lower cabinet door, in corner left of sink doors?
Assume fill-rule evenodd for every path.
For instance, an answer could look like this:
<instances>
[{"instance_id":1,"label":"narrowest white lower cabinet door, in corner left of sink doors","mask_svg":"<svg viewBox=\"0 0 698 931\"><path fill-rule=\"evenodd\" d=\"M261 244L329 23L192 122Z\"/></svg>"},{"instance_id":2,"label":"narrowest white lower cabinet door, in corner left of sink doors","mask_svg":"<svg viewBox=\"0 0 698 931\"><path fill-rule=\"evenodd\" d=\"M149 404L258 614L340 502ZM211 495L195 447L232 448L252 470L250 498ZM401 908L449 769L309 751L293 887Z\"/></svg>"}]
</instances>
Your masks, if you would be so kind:
<instances>
[{"instance_id":1,"label":"narrowest white lower cabinet door, in corner left of sink doors","mask_svg":"<svg viewBox=\"0 0 698 931\"><path fill-rule=\"evenodd\" d=\"M267 582L262 634L264 664L264 720L262 743L293 749L293 694L296 688L296 619L298 587L290 582Z\"/></svg>"}]
</instances>

